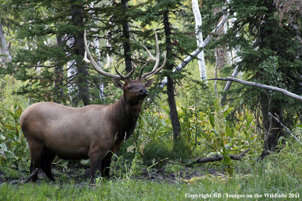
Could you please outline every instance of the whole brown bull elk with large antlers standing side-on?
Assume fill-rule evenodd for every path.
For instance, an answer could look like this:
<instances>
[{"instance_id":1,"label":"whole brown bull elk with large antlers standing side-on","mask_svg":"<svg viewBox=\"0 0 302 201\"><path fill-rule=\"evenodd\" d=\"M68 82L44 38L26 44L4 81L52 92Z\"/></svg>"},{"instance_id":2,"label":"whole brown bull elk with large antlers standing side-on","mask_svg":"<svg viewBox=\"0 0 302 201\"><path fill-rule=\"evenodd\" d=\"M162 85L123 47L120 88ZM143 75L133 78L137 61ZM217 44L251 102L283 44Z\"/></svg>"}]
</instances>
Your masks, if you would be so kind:
<instances>
[{"instance_id":1,"label":"whole brown bull elk with large antlers standing side-on","mask_svg":"<svg viewBox=\"0 0 302 201\"><path fill-rule=\"evenodd\" d=\"M114 85L122 89L124 94L113 105L88 105L82 108L72 108L55 103L36 103L29 106L21 115L20 122L29 151L31 152L32 174L41 168L46 176L54 180L51 173L51 163L57 155L63 159L90 159L90 173L92 178L96 173L102 177L109 177L111 156L123 140L132 135L137 118L141 112L143 99L147 96L146 88L152 85L154 79L143 82L144 79L158 73L165 65L159 66L159 44L156 36L156 58L151 55L150 60L156 61L151 72L138 78L130 79L133 70L126 76L102 71L90 54L84 33L85 56L84 61L103 76L112 78ZM87 58L88 56L88 58ZM120 80L125 83L120 82ZM37 171L36 171L37 172ZM38 179L38 172L33 174L32 181Z\"/></svg>"}]
</instances>

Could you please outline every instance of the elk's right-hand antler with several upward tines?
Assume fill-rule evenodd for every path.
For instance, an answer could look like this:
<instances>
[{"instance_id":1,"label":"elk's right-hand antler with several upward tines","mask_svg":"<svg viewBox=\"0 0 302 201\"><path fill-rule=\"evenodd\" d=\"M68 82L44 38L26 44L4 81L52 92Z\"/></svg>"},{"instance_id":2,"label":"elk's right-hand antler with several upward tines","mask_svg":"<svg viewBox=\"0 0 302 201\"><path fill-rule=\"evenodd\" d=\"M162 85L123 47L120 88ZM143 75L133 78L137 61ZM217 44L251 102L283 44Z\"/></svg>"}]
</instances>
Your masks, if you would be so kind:
<instances>
[{"instance_id":1,"label":"elk's right-hand antler with several upward tines","mask_svg":"<svg viewBox=\"0 0 302 201\"><path fill-rule=\"evenodd\" d=\"M156 31L154 30L154 32L155 32L155 39L156 39L156 58L150 53L150 51L143 44L141 44L150 56L150 58L146 59L146 60L147 61L151 61L151 60L156 61L155 65L153 67L153 70L149 73L146 73L145 75L142 75L142 72L143 72L143 69L145 68L146 64L141 68L138 78L140 78L142 80L147 79L147 78L157 74L160 70L162 70L164 68L164 65L166 63L166 54L165 54L165 58L164 58L164 62L162 64L162 66L159 69L157 69L158 64L159 64L159 60L160 60L159 59L159 44L158 44L158 38L157 38L157 35L156 35Z\"/></svg>"}]
</instances>

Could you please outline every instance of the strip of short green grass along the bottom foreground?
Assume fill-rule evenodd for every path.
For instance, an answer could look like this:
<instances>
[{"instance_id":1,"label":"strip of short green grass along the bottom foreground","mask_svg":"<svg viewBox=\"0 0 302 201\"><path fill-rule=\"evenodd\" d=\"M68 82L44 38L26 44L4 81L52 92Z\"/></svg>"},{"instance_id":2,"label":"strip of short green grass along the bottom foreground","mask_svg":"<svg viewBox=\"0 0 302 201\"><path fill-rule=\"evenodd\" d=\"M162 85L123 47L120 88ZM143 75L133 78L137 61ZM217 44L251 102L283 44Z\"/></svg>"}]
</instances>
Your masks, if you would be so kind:
<instances>
[{"instance_id":1,"label":"strip of short green grass along the bottom foreground","mask_svg":"<svg viewBox=\"0 0 302 201\"><path fill-rule=\"evenodd\" d=\"M244 165L244 164L240 164ZM175 183L151 182L147 180L109 180L100 184L74 184L73 181L53 182L42 180L40 184L26 183L20 186L3 184L0 200L192 200L195 194L210 194L212 197L199 200L226 200L214 197L215 193L226 196L245 197L228 200L300 200L300 198L265 198L264 193L299 193L302 195L301 177L269 169L270 163L255 163L250 175L236 175L227 181L206 178L190 185L180 179ZM189 194L187 194L189 193ZM262 195L256 198L255 194ZM219 194L216 194L219 196ZM252 198L247 198L251 195Z\"/></svg>"}]
</instances>

